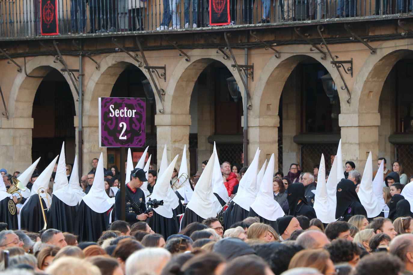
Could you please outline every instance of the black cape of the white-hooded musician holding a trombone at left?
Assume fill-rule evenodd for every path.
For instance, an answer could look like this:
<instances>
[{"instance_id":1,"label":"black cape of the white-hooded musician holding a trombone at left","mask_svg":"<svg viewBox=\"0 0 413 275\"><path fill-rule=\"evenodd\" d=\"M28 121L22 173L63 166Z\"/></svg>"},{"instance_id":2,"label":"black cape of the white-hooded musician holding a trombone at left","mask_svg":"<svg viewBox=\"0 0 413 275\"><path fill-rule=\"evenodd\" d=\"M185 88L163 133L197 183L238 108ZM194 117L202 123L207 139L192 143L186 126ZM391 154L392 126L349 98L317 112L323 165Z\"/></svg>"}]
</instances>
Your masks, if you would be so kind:
<instances>
[{"instance_id":1,"label":"black cape of the white-hooded musician holding a trombone at left","mask_svg":"<svg viewBox=\"0 0 413 275\"><path fill-rule=\"evenodd\" d=\"M40 205L40 200L38 195L30 196L24 205L23 209L20 210L20 227L21 230L27 230L28 232L39 232L45 226L45 221L42 214L42 206ZM45 200L43 201L43 209L47 208ZM47 216L47 210L44 211L45 216Z\"/></svg>"}]
</instances>

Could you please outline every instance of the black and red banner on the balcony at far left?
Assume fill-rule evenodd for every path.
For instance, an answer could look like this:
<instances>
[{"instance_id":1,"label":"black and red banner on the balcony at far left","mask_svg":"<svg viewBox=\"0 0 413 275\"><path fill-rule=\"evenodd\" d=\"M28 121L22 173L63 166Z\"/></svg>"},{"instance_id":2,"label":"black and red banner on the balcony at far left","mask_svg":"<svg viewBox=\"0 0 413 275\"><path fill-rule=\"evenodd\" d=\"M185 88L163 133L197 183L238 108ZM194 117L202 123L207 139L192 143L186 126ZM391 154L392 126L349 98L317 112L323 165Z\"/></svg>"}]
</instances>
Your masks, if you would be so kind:
<instances>
[{"instance_id":1,"label":"black and red banner on the balcony at far left","mask_svg":"<svg viewBox=\"0 0 413 275\"><path fill-rule=\"evenodd\" d=\"M40 32L42 35L57 35L57 0L40 0Z\"/></svg>"}]
</instances>

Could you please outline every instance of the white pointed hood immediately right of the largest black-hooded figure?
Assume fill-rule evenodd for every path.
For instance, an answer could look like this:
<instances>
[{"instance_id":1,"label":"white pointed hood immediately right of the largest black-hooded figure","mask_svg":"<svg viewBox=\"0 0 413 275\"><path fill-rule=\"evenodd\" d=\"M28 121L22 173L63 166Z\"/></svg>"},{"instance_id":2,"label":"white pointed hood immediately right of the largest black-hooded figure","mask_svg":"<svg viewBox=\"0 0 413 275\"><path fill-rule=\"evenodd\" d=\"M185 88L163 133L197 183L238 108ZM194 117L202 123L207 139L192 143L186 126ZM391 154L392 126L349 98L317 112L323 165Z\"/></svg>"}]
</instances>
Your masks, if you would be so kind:
<instances>
[{"instance_id":1,"label":"white pointed hood immediately right of the largest black-hooded figure","mask_svg":"<svg viewBox=\"0 0 413 275\"><path fill-rule=\"evenodd\" d=\"M367 157L363 178L361 179L357 195L364 209L366 209L368 218L377 217L380 212L382 212L383 207L373 192L373 161L371 152Z\"/></svg>"}]
</instances>

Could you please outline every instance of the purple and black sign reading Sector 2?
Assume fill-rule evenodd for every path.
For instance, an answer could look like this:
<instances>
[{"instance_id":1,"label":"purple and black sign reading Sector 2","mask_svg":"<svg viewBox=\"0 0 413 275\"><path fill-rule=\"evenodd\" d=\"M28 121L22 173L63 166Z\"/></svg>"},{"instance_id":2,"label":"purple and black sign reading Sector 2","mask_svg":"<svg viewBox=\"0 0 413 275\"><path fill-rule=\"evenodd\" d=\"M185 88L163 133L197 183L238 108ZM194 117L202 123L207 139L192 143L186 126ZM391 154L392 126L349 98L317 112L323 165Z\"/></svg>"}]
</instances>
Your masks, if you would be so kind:
<instances>
[{"instance_id":1,"label":"purple and black sign reading Sector 2","mask_svg":"<svg viewBox=\"0 0 413 275\"><path fill-rule=\"evenodd\" d=\"M145 99L99 98L99 146L145 145Z\"/></svg>"}]
</instances>

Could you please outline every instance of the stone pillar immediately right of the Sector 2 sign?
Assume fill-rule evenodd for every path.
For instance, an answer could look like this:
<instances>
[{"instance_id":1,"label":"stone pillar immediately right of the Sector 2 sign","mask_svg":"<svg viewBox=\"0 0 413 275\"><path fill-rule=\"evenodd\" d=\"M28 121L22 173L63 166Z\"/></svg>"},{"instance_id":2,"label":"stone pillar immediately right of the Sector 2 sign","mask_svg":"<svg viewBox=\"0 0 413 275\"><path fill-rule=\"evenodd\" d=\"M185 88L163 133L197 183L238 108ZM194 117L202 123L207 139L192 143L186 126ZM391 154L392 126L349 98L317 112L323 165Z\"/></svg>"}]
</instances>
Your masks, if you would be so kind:
<instances>
[{"instance_id":1,"label":"stone pillar immediately right of the Sector 2 sign","mask_svg":"<svg viewBox=\"0 0 413 275\"><path fill-rule=\"evenodd\" d=\"M186 144L186 157L189 168L189 125L191 125L191 116L188 115L171 115L157 114L155 115L155 125L157 127L157 166L161 164L164 146L167 147L168 162L173 160L173 157L179 155L178 163L182 157L183 146ZM177 165L178 166L178 165ZM176 167L178 169L179 167Z\"/></svg>"}]
</instances>

